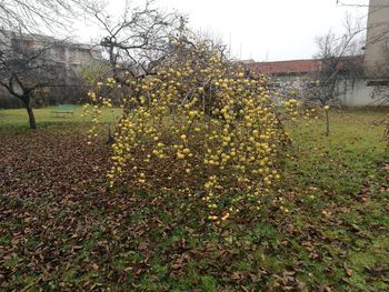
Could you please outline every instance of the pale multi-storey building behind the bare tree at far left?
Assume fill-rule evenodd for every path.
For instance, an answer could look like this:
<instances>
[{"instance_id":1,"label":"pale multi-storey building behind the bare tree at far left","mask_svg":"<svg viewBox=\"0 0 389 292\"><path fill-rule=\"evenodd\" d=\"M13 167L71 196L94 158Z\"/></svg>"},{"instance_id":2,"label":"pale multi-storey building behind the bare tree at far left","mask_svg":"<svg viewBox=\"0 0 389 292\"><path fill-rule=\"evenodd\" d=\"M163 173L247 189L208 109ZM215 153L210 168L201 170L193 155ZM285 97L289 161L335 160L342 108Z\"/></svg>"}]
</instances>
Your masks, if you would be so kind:
<instances>
[{"instance_id":1,"label":"pale multi-storey building behind the bare tree at far left","mask_svg":"<svg viewBox=\"0 0 389 292\"><path fill-rule=\"evenodd\" d=\"M27 59L39 54L40 62L50 63L50 77L62 80L66 87L41 89L33 99L34 105L44 107L60 102L77 102L83 95L80 72L83 68L101 63L101 51L98 47L59 41L41 34L24 34L0 30L0 58L18 60L19 53ZM13 62L14 63L14 62ZM58 70L53 70L57 68ZM56 75L58 74L58 75ZM80 85L81 84L81 85ZM20 108L21 101L13 98L8 90L0 87L0 109Z\"/></svg>"}]
</instances>

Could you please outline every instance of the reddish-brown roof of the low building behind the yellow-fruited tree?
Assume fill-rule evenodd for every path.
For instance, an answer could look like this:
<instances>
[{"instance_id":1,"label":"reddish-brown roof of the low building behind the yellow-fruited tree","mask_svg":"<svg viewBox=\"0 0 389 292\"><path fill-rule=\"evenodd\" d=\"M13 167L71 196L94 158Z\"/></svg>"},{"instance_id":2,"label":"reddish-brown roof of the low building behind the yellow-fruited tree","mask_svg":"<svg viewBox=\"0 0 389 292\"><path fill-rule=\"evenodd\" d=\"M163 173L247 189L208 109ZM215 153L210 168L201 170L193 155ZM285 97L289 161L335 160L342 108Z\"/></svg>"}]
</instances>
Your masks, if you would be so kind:
<instances>
[{"instance_id":1,"label":"reddish-brown roof of the low building behind the yellow-fruited tree","mask_svg":"<svg viewBox=\"0 0 389 292\"><path fill-rule=\"evenodd\" d=\"M351 60L356 66L363 64L363 56L345 57L345 60ZM306 74L321 69L320 59L308 60L289 60L289 61L276 61L276 62L252 62L246 64L248 69L269 75L293 75ZM339 63L340 70L343 68L343 63Z\"/></svg>"}]
</instances>

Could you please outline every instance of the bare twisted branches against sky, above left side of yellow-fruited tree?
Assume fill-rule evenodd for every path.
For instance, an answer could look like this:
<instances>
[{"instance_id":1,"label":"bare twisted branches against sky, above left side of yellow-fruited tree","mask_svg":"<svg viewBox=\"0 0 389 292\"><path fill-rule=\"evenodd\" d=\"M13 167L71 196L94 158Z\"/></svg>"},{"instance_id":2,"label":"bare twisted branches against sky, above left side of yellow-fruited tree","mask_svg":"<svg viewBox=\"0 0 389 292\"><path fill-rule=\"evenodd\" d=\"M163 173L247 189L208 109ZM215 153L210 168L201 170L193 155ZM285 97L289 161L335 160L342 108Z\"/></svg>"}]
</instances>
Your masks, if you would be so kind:
<instances>
[{"instance_id":1,"label":"bare twisted branches against sky, above left side of yellow-fruited tree","mask_svg":"<svg viewBox=\"0 0 389 292\"><path fill-rule=\"evenodd\" d=\"M153 73L169 51L171 38L179 33L184 21L176 12L156 8L152 0L143 7L130 7L127 1L119 19L110 16L101 4L90 4L87 11L104 30L100 46L108 54L118 82L123 82L126 72L134 79Z\"/></svg>"}]
</instances>

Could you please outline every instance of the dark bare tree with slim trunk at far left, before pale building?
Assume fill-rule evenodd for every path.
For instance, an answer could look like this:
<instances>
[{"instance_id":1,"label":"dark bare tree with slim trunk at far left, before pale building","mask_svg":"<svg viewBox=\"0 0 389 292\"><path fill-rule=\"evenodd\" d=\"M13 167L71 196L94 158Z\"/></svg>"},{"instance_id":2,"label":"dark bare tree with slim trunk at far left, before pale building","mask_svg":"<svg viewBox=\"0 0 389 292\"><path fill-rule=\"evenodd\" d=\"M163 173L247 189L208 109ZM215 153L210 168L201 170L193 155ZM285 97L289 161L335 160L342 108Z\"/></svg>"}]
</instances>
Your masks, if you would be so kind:
<instances>
[{"instance_id":1,"label":"dark bare tree with slim trunk at far left, before pale building","mask_svg":"<svg viewBox=\"0 0 389 292\"><path fill-rule=\"evenodd\" d=\"M32 111L34 93L42 88L67 84L63 63L53 58L53 48L61 43L41 38L31 44L31 38L14 32L0 32L0 85L22 101L31 129L37 128Z\"/></svg>"}]
</instances>

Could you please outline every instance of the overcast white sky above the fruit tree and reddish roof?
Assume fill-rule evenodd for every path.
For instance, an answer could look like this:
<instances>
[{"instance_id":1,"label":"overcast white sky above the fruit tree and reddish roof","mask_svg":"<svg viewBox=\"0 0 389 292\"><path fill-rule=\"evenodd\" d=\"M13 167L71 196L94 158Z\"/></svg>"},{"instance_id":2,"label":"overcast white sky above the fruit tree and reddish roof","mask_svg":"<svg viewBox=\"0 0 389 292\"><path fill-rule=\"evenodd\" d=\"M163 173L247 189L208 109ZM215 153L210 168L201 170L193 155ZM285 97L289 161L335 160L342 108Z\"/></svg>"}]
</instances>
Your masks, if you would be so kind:
<instances>
[{"instance_id":1,"label":"overcast white sky above the fruit tree and reddish roof","mask_svg":"<svg viewBox=\"0 0 389 292\"><path fill-rule=\"evenodd\" d=\"M106 1L112 14L120 16L124 0ZM367 21L367 8L337 6L337 0L157 0L157 6L188 14L192 29L211 31L231 43L235 57L256 61L312 58L315 38L330 29L341 33L346 13L363 26ZM99 33L92 31L80 29L81 38L96 39Z\"/></svg>"}]
</instances>

